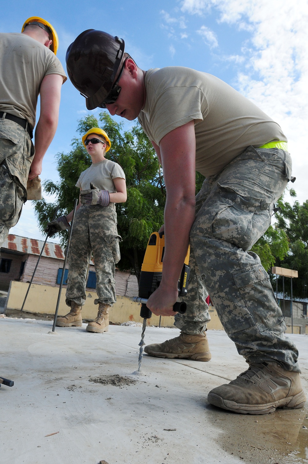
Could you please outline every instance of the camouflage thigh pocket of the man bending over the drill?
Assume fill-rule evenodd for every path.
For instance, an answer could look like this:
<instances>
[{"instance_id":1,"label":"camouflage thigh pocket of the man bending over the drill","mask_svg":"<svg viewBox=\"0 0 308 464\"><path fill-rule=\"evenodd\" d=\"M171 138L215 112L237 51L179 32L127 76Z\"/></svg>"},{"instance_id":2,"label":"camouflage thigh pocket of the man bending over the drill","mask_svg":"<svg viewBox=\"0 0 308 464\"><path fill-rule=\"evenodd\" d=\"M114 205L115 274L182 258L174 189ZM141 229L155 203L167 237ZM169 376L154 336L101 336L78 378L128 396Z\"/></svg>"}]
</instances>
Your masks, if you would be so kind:
<instances>
[{"instance_id":1,"label":"camouflage thigh pocket of the man bending over the drill","mask_svg":"<svg viewBox=\"0 0 308 464\"><path fill-rule=\"evenodd\" d=\"M269 228L274 203L270 199L243 196L229 185L218 185L232 201L214 216L213 237L249 250Z\"/></svg>"}]
</instances>

